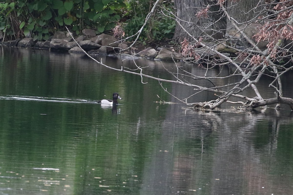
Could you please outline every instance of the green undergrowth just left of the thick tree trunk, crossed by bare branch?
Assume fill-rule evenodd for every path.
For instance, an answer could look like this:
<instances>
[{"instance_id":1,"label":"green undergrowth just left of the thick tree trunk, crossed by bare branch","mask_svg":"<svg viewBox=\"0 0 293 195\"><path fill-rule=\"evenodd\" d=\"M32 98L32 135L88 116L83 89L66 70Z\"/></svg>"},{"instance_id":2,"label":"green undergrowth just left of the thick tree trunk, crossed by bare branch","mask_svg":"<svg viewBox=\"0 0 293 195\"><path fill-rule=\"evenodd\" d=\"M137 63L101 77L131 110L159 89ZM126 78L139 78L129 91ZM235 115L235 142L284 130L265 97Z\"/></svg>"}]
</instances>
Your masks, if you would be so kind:
<instances>
[{"instance_id":1,"label":"green undergrowth just left of the thick tree trunk, crossed by bare branch","mask_svg":"<svg viewBox=\"0 0 293 195\"><path fill-rule=\"evenodd\" d=\"M142 27L153 3L154 2L149 0L141 0L139 2L135 0L128 1L128 12L124 15L125 18L129 18L126 20L126 25L124 26L124 31L127 36L137 33ZM170 13L174 11L173 4L168 0L162 1L161 7L162 10L154 14L142 31L141 36L139 37L140 40L151 42L154 40L171 39L173 37L176 26L176 21L172 18ZM165 15L169 17L166 17ZM131 40L133 39L135 39L135 37Z\"/></svg>"}]
</instances>

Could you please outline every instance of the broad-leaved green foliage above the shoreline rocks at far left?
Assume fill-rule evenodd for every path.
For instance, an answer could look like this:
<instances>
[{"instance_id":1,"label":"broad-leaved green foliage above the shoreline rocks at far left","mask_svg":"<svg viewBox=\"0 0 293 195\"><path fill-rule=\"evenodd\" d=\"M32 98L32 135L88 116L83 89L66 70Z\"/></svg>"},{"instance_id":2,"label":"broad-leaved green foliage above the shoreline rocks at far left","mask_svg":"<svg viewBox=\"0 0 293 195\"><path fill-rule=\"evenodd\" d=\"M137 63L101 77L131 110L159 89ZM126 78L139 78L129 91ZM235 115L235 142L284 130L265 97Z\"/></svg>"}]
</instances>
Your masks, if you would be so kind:
<instances>
[{"instance_id":1,"label":"broad-leaved green foliage above the shoreline rocks at far left","mask_svg":"<svg viewBox=\"0 0 293 195\"><path fill-rule=\"evenodd\" d=\"M121 18L123 0L8 0L0 3L0 30L15 38L47 40L65 25L79 34L84 28L111 30Z\"/></svg>"}]
</instances>

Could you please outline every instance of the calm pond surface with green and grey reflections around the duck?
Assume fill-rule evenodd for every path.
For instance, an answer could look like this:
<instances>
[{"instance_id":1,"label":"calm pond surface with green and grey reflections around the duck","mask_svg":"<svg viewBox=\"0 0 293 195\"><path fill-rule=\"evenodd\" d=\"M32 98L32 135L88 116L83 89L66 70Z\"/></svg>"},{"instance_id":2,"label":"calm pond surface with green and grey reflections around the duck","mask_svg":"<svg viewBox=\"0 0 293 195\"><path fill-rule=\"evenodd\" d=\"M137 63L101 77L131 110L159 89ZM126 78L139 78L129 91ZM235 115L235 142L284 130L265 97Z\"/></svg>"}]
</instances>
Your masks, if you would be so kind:
<instances>
[{"instance_id":1,"label":"calm pond surface with green and grey reflections around the duck","mask_svg":"<svg viewBox=\"0 0 293 195\"><path fill-rule=\"evenodd\" d=\"M171 78L157 61L136 62ZM132 60L123 63L133 67ZM157 81L143 81L82 55L1 48L0 194L293 194L289 107L195 111L155 103L157 95L177 101ZM269 82L258 84L264 97L272 93ZM291 83L283 85L292 97ZM163 86L180 98L194 92ZM113 92L123 98L116 109L97 103ZM190 102L212 96L204 92Z\"/></svg>"}]
</instances>

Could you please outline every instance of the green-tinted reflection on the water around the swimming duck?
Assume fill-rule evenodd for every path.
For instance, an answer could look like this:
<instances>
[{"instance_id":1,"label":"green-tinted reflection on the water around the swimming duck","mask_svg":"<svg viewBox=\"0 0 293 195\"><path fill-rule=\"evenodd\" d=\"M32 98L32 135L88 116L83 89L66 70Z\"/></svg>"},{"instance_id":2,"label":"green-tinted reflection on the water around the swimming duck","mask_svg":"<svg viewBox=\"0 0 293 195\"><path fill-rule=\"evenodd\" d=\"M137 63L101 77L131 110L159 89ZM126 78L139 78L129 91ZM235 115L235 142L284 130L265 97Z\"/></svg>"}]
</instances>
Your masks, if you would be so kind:
<instances>
[{"instance_id":1,"label":"green-tinted reflection on the water around the swimming duck","mask_svg":"<svg viewBox=\"0 0 293 195\"><path fill-rule=\"evenodd\" d=\"M2 96L97 100L119 92L123 98L118 114L100 104L0 100L2 191L137 194L167 108L153 103L156 94L168 101L158 83L145 86L140 77L103 72L68 55L1 55Z\"/></svg>"}]
</instances>

